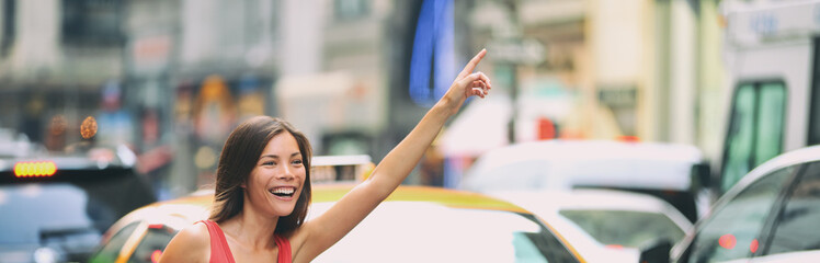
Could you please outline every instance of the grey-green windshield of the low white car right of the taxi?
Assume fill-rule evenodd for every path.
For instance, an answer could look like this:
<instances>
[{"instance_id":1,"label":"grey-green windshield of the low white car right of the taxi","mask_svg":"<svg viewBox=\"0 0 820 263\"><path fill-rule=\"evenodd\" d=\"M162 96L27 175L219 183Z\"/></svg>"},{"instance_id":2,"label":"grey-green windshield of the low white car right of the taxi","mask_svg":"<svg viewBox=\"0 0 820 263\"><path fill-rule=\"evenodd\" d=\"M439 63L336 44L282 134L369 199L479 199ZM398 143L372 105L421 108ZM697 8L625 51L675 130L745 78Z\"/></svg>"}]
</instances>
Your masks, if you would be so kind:
<instances>
[{"instance_id":1,"label":"grey-green windshield of the low white car right of the taxi","mask_svg":"<svg viewBox=\"0 0 820 263\"><path fill-rule=\"evenodd\" d=\"M657 213L562 209L559 214L607 245L638 248L658 238L676 242L685 235L669 217Z\"/></svg>"}]
</instances>

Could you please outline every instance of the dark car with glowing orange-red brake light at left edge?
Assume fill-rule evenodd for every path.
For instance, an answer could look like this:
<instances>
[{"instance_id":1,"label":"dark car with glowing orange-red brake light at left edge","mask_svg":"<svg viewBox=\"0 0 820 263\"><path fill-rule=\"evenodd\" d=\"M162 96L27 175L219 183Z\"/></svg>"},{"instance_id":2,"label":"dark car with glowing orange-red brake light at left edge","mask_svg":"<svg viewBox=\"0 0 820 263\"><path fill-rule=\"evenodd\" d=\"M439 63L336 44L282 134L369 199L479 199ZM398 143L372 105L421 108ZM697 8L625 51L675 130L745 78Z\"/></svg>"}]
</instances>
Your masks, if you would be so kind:
<instances>
[{"instance_id":1,"label":"dark car with glowing orange-red brake light at left edge","mask_svg":"<svg viewBox=\"0 0 820 263\"><path fill-rule=\"evenodd\" d=\"M1 263L86 262L117 219L156 202L127 147L80 148L0 155Z\"/></svg>"}]
</instances>

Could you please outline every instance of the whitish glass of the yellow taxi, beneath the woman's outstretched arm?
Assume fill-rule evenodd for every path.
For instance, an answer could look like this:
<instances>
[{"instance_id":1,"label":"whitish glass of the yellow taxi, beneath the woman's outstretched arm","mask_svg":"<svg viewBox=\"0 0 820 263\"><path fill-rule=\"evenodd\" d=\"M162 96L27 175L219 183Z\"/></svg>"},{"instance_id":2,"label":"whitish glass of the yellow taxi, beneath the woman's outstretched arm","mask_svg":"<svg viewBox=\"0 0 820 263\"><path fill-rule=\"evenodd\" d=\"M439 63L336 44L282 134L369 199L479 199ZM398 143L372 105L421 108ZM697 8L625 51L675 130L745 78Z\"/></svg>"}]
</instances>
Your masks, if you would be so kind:
<instances>
[{"instance_id":1,"label":"whitish glass of the yellow taxi, beneath the woman's outstretched arm","mask_svg":"<svg viewBox=\"0 0 820 263\"><path fill-rule=\"evenodd\" d=\"M577 262L532 216L412 202L381 204L314 262L385 261Z\"/></svg>"}]
</instances>

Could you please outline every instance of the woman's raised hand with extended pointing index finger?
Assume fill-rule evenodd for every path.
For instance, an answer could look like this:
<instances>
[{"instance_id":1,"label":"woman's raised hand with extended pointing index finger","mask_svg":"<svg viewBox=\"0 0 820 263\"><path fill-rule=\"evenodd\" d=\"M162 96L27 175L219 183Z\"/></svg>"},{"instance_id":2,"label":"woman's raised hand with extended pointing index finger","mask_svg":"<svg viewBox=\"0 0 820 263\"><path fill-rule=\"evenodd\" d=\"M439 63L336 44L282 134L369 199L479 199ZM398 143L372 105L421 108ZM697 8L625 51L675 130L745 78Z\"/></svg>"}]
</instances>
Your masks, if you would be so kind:
<instances>
[{"instance_id":1,"label":"woman's raised hand with extended pointing index finger","mask_svg":"<svg viewBox=\"0 0 820 263\"><path fill-rule=\"evenodd\" d=\"M458 108L462 107L467 98L477 95L483 99L489 94L490 89L492 89L492 82L487 75L482 72L472 73L472 70L476 69L476 66L478 66L478 62L481 61L485 55L487 55L487 49L481 49L481 52L470 59L439 102L443 103L443 106L451 114L458 112Z\"/></svg>"}]
</instances>

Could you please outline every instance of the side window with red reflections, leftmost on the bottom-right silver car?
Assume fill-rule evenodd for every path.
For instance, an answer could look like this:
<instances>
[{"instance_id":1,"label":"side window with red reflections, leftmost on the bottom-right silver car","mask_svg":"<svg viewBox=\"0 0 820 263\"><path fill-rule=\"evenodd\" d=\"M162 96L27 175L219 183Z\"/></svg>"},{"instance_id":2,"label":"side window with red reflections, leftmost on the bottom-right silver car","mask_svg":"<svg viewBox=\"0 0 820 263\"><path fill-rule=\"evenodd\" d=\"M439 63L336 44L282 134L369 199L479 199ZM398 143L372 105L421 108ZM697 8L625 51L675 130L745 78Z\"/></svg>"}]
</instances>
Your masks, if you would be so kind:
<instances>
[{"instance_id":1,"label":"side window with red reflections, leftmost on the bottom-right silver car","mask_svg":"<svg viewBox=\"0 0 820 263\"><path fill-rule=\"evenodd\" d=\"M749 258L781 188L795 167L777 170L752 182L709 217L690 245L686 262L717 262Z\"/></svg>"}]
</instances>

